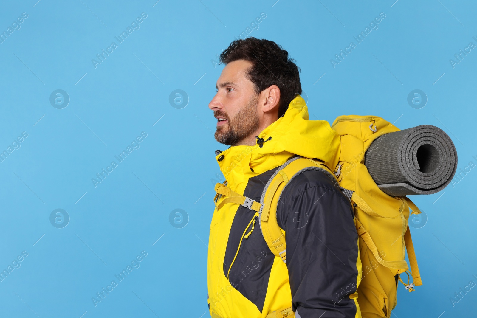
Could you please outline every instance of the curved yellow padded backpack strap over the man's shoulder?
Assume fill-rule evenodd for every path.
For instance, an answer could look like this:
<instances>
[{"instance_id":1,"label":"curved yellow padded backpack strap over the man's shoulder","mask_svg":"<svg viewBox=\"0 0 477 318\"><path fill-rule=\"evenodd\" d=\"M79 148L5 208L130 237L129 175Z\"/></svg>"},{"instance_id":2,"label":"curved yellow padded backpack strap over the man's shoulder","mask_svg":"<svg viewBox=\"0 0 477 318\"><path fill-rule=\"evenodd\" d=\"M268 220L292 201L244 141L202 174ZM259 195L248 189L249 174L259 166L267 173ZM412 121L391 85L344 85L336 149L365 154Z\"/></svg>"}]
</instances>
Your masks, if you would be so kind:
<instances>
[{"instance_id":1,"label":"curved yellow padded backpack strap over the man's shoulder","mask_svg":"<svg viewBox=\"0 0 477 318\"><path fill-rule=\"evenodd\" d=\"M336 177L324 164L309 158L297 156L288 160L275 171L265 185L260 198L260 230L270 251L276 256L280 256L285 263L287 244L285 242L285 231L278 225L277 205L283 189L290 181L298 174L308 170L321 170L328 174L333 182L338 185Z\"/></svg>"}]
</instances>

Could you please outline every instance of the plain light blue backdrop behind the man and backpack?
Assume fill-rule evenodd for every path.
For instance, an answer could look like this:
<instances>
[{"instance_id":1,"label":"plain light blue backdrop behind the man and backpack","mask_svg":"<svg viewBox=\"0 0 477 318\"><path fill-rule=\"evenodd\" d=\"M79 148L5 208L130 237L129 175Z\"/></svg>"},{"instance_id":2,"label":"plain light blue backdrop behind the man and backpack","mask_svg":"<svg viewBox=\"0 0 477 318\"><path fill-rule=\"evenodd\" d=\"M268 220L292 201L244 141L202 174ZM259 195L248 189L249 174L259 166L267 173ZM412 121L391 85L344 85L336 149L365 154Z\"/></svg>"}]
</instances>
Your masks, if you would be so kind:
<instances>
[{"instance_id":1,"label":"plain light blue backdrop behind the man and backpack","mask_svg":"<svg viewBox=\"0 0 477 318\"><path fill-rule=\"evenodd\" d=\"M456 144L458 169L477 164L477 50L449 62L477 44L474 1L36 1L3 1L0 10L0 31L28 14L0 43L0 150L28 133L0 163L0 269L28 252L0 282L2 317L207 317L208 227L222 177L214 150L226 148L207 108L223 68L211 60L261 12L249 36L296 59L311 119L373 114L401 129L436 125ZM140 29L94 68L141 12ZM380 12L379 28L333 68L330 59ZM49 102L56 89L70 96L61 110ZM176 89L188 94L183 109L168 102ZM407 103L414 89L427 95L422 109ZM140 148L94 187L143 131ZM400 285L393 317L477 316L477 287L450 301L477 283L476 171L412 196L428 217L411 228L424 285L411 294ZM71 218L61 229L49 220L57 208ZM183 228L169 223L176 208L188 214ZM140 267L95 307L91 298L143 250Z\"/></svg>"}]
</instances>

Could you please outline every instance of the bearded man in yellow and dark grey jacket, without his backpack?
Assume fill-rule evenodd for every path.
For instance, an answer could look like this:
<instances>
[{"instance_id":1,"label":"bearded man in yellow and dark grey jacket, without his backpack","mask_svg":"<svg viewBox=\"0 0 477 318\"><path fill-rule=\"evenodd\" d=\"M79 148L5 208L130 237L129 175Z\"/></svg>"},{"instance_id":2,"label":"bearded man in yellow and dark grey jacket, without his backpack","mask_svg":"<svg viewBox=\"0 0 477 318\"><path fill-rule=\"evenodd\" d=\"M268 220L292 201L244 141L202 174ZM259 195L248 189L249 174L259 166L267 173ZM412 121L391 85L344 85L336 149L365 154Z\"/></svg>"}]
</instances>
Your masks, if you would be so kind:
<instances>
[{"instance_id":1,"label":"bearded man in yellow and dark grey jacket, without his backpack","mask_svg":"<svg viewBox=\"0 0 477 318\"><path fill-rule=\"evenodd\" d=\"M217 118L216 140L230 147L217 150L216 160L227 187L257 202L288 159L300 155L333 169L338 161L339 137L326 121L308 120L293 61L275 42L253 37L232 42L220 55L226 66L209 108ZM285 264L270 251L256 211L236 203L216 208L207 264L212 317L361 317L353 217L350 201L328 175L297 175L277 207Z\"/></svg>"}]
</instances>

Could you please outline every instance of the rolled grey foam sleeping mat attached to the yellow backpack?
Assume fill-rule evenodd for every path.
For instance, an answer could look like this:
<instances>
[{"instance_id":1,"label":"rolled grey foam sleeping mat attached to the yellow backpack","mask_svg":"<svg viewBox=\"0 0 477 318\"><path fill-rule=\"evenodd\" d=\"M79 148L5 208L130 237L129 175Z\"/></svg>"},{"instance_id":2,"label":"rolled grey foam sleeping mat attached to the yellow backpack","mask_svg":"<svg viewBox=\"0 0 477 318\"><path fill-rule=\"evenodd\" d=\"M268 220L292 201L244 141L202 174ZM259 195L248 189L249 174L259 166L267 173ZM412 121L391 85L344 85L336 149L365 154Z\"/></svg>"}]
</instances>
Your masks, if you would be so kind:
<instances>
[{"instance_id":1,"label":"rolled grey foam sleeping mat attached to the yellow backpack","mask_svg":"<svg viewBox=\"0 0 477 318\"><path fill-rule=\"evenodd\" d=\"M430 195L454 177L457 152L442 129L420 125L376 138L366 151L364 164L388 195Z\"/></svg>"}]
</instances>

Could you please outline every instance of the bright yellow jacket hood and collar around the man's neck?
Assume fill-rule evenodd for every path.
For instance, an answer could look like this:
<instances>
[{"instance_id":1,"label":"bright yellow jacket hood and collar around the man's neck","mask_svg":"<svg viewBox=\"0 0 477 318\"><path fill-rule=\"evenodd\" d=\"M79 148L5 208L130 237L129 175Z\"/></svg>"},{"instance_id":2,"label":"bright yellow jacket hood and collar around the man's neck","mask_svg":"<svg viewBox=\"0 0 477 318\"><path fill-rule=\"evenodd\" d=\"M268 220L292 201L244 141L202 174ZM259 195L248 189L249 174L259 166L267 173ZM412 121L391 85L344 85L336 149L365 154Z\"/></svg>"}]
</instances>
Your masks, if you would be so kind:
<instances>
[{"instance_id":1,"label":"bright yellow jacket hood and collar around the man's neck","mask_svg":"<svg viewBox=\"0 0 477 318\"><path fill-rule=\"evenodd\" d=\"M242 191L250 177L280 166L295 155L318 159L333 171L340 156L340 137L327 121L308 118L305 100L298 95L285 114L259 134L264 140L271 137L263 147L232 146L218 154L216 160L228 187Z\"/></svg>"}]
</instances>

